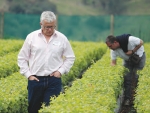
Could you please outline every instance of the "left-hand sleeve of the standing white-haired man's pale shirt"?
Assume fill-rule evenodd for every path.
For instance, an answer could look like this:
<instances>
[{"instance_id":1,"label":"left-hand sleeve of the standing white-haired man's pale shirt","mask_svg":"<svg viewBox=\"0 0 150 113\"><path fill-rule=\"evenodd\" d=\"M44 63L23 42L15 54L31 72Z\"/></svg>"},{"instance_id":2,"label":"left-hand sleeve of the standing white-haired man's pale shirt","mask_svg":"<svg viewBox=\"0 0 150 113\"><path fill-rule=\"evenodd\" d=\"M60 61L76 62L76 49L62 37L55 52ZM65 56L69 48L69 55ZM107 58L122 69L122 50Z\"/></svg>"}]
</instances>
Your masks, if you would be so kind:
<instances>
[{"instance_id":1,"label":"left-hand sleeve of the standing white-haired man's pale shirt","mask_svg":"<svg viewBox=\"0 0 150 113\"><path fill-rule=\"evenodd\" d=\"M19 54L18 54L18 66L20 67L20 73L27 78L31 75L29 70L29 57L30 57L30 43L29 36L27 36Z\"/></svg>"}]
</instances>

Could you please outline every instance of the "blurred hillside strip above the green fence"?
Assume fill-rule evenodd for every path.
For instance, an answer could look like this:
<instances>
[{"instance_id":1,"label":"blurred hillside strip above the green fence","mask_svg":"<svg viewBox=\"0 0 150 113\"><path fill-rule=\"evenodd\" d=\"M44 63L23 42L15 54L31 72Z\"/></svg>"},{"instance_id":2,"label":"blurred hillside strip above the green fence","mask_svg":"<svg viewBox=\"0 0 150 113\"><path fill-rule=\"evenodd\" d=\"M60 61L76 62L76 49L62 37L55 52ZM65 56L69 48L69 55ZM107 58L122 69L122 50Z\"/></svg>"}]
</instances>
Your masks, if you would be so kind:
<instances>
[{"instance_id":1,"label":"blurred hillside strip above the green fence","mask_svg":"<svg viewBox=\"0 0 150 113\"><path fill-rule=\"evenodd\" d=\"M0 11L37 14L47 9L65 15L143 15L150 14L149 5L149 0L0 0Z\"/></svg>"}]
</instances>

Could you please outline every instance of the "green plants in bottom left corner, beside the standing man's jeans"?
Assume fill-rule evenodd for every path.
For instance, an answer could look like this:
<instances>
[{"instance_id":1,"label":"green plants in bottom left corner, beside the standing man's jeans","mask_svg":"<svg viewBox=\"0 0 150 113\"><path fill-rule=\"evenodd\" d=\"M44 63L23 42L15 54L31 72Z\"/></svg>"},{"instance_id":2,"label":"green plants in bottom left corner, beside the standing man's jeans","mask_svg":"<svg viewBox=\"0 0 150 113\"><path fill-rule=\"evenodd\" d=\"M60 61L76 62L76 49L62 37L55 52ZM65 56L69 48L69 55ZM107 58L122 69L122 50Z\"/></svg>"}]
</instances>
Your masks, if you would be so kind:
<instances>
[{"instance_id":1,"label":"green plants in bottom left corner, beside the standing man's jeans","mask_svg":"<svg viewBox=\"0 0 150 113\"><path fill-rule=\"evenodd\" d=\"M27 79L16 72L0 84L0 113L27 113Z\"/></svg>"}]
</instances>

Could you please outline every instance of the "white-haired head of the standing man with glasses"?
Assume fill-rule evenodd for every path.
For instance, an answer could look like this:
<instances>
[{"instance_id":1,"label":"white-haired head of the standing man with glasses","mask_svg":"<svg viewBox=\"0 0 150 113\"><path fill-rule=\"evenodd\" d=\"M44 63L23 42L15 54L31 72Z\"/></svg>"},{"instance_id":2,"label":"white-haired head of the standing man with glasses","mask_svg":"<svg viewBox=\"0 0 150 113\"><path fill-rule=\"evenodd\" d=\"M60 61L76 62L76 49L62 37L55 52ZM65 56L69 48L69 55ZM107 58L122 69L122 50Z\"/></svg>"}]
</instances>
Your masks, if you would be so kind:
<instances>
[{"instance_id":1,"label":"white-haired head of the standing man with glasses","mask_svg":"<svg viewBox=\"0 0 150 113\"><path fill-rule=\"evenodd\" d=\"M56 27L56 15L51 11L44 11L41 14L40 25L46 36L52 36Z\"/></svg>"}]
</instances>

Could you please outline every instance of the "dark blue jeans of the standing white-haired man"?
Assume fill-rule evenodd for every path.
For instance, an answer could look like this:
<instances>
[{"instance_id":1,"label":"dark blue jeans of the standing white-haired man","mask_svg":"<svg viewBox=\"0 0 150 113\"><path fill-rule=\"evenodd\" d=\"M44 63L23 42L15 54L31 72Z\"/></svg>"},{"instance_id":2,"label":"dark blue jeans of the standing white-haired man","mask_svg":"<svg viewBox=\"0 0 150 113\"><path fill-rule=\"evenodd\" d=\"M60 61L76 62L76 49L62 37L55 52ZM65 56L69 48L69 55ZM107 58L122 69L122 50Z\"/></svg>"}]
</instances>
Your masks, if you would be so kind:
<instances>
[{"instance_id":1,"label":"dark blue jeans of the standing white-haired man","mask_svg":"<svg viewBox=\"0 0 150 113\"><path fill-rule=\"evenodd\" d=\"M28 80L28 112L38 113L41 105L50 104L51 96L58 96L61 92L61 78L54 76L39 77L39 81Z\"/></svg>"}]
</instances>

